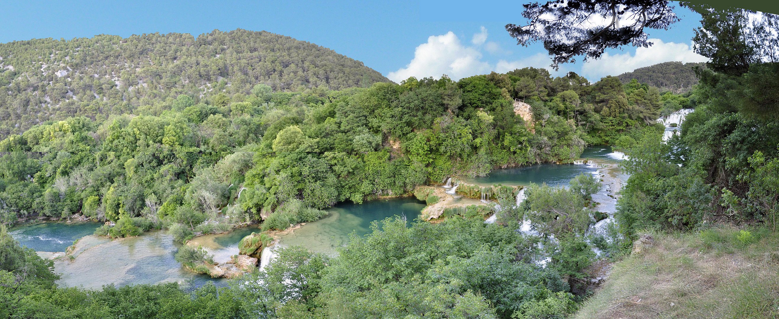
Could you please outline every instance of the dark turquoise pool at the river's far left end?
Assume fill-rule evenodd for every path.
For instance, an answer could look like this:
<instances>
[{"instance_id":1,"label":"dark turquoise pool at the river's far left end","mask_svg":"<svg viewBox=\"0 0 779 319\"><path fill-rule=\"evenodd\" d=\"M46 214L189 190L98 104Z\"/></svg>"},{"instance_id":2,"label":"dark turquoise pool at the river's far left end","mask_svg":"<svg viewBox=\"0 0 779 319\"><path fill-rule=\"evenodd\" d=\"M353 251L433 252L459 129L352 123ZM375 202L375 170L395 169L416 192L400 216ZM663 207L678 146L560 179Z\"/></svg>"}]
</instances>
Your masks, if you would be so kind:
<instances>
[{"instance_id":1,"label":"dark turquoise pool at the river's far left end","mask_svg":"<svg viewBox=\"0 0 779 319\"><path fill-rule=\"evenodd\" d=\"M94 233L102 223L37 223L23 224L9 230L21 246L35 251L65 251L74 240Z\"/></svg>"}]
</instances>

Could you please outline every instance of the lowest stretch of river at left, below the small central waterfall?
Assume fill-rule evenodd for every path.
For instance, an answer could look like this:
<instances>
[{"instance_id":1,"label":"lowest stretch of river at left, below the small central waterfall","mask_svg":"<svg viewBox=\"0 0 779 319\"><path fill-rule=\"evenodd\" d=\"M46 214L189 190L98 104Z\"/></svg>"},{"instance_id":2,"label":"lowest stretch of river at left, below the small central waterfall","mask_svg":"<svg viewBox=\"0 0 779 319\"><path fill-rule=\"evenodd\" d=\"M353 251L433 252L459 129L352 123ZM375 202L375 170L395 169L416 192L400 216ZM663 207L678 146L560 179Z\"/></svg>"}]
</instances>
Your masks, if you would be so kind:
<instances>
[{"instance_id":1,"label":"lowest stretch of river at left, below the small central waterfall","mask_svg":"<svg viewBox=\"0 0 779 319\"><path fill-rule=\"evenodd\" d=\"M74 240L91 235L101 223L39 223L16 226L9 230L11 236L23 246L35 251L65 251ZM231 233L196 237L214 255L224 262L238 254L241 238L257 230L243 227ZM62 258L55 261L55 272L61 275L60 286L83 286L100 289L103 285L153 284L182 282L203 286L213 282L217 286L227 284L226 279L213 279L209 275L196 274L182 267L174 256L181 244L163 231L144 233L139 237L100 240L90 236L93 247L79 251L73 261ZM85 239L86 240L86 239ZM91 245L90 245L91 246Z\"/></svg>"}]
</instances>

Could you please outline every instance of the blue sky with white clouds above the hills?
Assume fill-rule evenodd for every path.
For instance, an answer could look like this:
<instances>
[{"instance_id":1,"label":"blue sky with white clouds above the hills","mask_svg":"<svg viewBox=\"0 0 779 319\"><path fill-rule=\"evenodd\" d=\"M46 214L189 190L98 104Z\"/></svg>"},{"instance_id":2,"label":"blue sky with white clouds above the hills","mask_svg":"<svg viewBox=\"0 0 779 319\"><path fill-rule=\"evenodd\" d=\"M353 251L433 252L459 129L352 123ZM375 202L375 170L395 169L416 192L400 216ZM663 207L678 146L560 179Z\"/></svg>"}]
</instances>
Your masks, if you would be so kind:
<instances>
[{"instance_id":1,"label":"blue sky with white clouds above the hills","mask_svg":"<svg viewBox=\"0 0 779 319\"><path fill-rule=\"evenodd\" d=\"M0 42L95 34L128 37L141 33L266 30L329 47L365 62L390 79L446 73L457 79L525 66L548 67L541 44L520 47L506 23L522 24L523 2L508 1L76 1L6 2ZM563 65L597 80L661 61L703 61L690 47L700 16L677 9L671 30L651 30L650 49L610 51L590 63ZM477 37L474 35L478 34ZM484 37L486 36L486 37Z\"/></svg>"}]
</instances>

